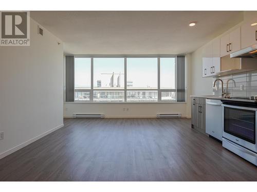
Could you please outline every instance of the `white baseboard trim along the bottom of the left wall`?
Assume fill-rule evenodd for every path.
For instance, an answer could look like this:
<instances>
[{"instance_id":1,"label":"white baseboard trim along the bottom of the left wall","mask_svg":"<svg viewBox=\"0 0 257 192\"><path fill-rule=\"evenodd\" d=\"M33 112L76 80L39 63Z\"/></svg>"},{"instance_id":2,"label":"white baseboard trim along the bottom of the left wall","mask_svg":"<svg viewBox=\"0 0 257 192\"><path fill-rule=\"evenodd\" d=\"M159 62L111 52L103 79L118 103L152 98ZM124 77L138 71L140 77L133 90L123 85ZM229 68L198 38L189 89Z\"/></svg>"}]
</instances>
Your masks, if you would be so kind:
<instances>
[{"instance_id":1,"label":"white baseboard trim along the bottom of the left wall","mask_svg":"<svg viewBox=\"0 0 257 192\"><path fill-rule=\"evenodd\" d=\"M53 129L51 129L51 130L49 130L49 131L47 131L47 132L45 132L45 133L42 133L42 134L39 135L39 136L36 136L36 137L34 137L34 138L32 138L32 139L30 139L30 140L28 140L28 141L25 141L24 143L21 143L21 144L15 146L15 147L10 148L10 150L7 150L7 151L5 151L5 152L3 152L3 153L0 154L0 159L2 159L2 158L4 158L4 157L6 157L6 156L12 154L13 152L16 152L16 151L20 150L21 148L23 148L23 147L29 145L30 143L33 143L33 142L36 141L36 140L41 139L42 137L44 137L44 136L46 136L46 135L48 135L48 134L50 134L50 133L52 133L52 132L54 132L54 131L60 129L60 128L63 127L63 126L64 126L64 124L60 124L60 125L58 125L57 127L54 127Z\"/></svg>"}]
</instances>

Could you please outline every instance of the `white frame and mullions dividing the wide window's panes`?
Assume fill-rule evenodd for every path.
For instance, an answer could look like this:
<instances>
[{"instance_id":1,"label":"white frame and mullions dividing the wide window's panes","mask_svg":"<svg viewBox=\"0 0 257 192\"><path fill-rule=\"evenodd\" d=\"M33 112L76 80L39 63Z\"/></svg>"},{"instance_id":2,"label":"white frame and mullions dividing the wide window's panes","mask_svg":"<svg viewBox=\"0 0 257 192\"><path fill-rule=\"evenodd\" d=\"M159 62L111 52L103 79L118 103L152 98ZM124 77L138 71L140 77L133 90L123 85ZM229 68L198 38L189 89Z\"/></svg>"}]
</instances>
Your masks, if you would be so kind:
<instances>
[{"instance_id":1,"label":"white frame and mullions dividing the wide window's panes","mask_svg":"<svg viewBox=\"0 0 257 192\"><path fill-rule=\"evenodd\" d=\"M75 58L91 58L91 88L84 89L90 92L89 101L75 100L75 103L186 103L186 101L177 102L176 100L161 100L161 92L177 93L177 55L73 55ZM157 89L127 89L127 58L157 58ZM160 58L175 58L175 89L160 89ZM94 89L94 58L124 58L124 89ZM75 74L74 74L75 75ZM81 91L81 90L80 90ZM124 91L124 101L94 101L94 91ZM127 101L127 91L157 91L157 101ZM75 94L76 90L74 90ZM187 94L186 94L187 95ZM187 98L187 97L186 97Z\"/></svg>"}]
</instances>

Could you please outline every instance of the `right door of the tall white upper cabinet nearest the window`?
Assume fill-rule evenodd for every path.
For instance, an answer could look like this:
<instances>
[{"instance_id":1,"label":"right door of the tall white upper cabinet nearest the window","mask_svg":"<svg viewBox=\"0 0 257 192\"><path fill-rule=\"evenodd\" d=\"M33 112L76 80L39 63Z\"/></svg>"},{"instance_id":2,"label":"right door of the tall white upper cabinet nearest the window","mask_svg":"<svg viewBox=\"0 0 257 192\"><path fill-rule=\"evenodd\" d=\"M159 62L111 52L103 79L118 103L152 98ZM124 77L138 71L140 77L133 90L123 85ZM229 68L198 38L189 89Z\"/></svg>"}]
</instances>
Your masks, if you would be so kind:
<instances>
[{"instance_id":1,"label":"right door of the tall white upper cabinet nearest the window","mask_svg":"<svg viewBox=\"0 0 257 192\"><path fill-rule=\"evenodd\" d=\"M216 38L212 42L212 65L213 73L221 71L221 39Z\"/></svg>"}]
</instances>

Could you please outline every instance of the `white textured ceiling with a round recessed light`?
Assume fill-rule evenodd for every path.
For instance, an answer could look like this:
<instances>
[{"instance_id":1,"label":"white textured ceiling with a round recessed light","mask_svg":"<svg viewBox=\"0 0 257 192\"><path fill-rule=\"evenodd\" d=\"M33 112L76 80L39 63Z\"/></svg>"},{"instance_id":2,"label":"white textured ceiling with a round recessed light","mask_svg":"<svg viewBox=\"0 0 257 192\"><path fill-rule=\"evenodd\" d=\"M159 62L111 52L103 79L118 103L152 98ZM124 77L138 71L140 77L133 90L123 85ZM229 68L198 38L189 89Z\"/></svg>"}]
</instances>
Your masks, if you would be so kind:
<instances>
[{"instance_id":1,"label":"white textured ceiling with a round recessed light","mask_svg":"<svg viewBox=\"0 0 257 192\"><path fill-rule=\"evenodd\" d=\"M243 20L242 11L31 11L67 54L190 53ZM196 21L197 25L189 27Z\"/></svg>"}]
</instances>

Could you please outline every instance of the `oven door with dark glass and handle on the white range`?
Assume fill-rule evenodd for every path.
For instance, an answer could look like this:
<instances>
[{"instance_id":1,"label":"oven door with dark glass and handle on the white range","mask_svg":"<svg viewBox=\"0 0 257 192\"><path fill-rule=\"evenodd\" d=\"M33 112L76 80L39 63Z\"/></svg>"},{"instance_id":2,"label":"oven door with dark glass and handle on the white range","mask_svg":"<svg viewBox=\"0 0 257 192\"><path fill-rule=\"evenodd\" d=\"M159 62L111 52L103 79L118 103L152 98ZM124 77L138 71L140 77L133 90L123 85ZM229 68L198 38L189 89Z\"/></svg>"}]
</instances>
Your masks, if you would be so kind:
<instances>
[{"instance_id":1,"label":"oven door with dark glass and handle on the white range","mask_svg":"<svg viewBox=\"0 0 257 192\"><path fill-rule=\"evenodd\" d=\"M222 136L257 153L257 109L223 104Z\"/></svg>"}]
</instances>

